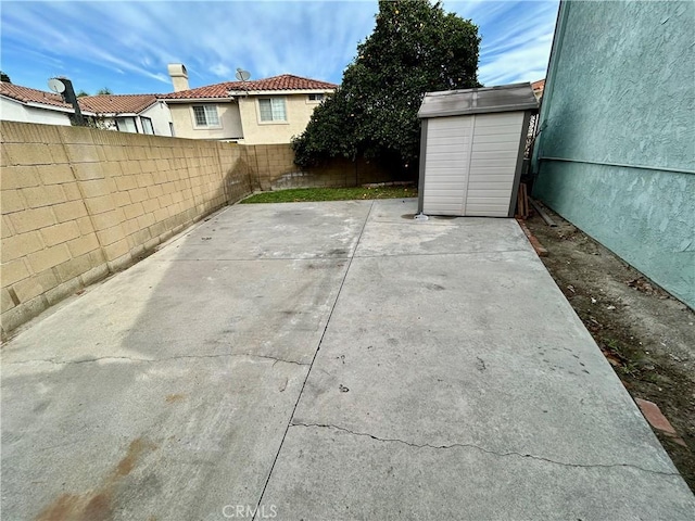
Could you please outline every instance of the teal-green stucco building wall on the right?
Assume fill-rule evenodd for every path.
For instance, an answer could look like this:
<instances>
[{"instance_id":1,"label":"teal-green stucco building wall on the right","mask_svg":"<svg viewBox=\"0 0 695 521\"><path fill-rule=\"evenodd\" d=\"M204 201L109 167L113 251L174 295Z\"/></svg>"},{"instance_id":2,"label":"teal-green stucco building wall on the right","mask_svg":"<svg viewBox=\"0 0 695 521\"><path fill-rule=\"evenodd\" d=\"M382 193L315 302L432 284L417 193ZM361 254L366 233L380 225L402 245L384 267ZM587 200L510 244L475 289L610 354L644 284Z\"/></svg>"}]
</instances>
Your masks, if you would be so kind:
<instances>
[{"instance_id":1,"label":"teal-green stucco building wall on the right","mask_svg":"<svg viewBox=\"0 0 695 521\"><path fill-rule=\"evenodd\" d=\"M693 20L688 1L560 3L533 194L695 308Z\"/></svg>"}]
</instances>

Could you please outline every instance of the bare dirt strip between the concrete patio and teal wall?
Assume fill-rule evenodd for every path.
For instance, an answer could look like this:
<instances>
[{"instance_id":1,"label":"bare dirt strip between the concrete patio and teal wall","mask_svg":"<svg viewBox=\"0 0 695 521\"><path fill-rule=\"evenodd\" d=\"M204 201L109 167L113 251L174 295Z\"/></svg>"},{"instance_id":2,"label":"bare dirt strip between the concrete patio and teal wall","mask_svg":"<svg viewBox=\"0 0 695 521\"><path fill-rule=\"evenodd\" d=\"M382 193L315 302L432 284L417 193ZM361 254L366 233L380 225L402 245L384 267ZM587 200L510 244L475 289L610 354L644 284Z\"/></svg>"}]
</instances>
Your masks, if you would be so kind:
<instances>
[{"instance_id":1,"label":"bare dirt strip between the concrete patio and teal wall","mask_svg":"<svg viewBox=\"0 0 695 521\"><path fill-rule=\"evenodd\" d=\"M526 224L545 267L634 398L654 402L686 447L655 430L695 492L695 313L577 227L547 211Z\"/></svg>"}]
</instances>

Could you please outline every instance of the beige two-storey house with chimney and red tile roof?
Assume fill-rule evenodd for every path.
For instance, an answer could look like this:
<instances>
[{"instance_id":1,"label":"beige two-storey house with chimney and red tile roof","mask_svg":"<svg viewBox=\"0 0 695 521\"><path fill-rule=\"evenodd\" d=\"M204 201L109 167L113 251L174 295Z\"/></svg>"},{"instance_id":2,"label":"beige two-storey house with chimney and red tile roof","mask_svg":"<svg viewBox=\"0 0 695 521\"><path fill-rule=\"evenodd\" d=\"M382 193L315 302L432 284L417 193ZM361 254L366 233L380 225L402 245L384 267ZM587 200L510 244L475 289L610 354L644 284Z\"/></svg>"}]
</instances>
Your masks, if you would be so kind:
<instances>
[{"instance_id":1,"label":"beige two-storey house with chimney and red tile roof","mask_svg":"<svg viewBox=\"0 0 695 521\"><path fill-rule=\"evenodd\" d=\"M289 143L338 87L283 74L189 89L184 65L170 64L168 72L174 92L161 99L169 106L178 137L245 144Z\"/></svg>"}]
</instances>

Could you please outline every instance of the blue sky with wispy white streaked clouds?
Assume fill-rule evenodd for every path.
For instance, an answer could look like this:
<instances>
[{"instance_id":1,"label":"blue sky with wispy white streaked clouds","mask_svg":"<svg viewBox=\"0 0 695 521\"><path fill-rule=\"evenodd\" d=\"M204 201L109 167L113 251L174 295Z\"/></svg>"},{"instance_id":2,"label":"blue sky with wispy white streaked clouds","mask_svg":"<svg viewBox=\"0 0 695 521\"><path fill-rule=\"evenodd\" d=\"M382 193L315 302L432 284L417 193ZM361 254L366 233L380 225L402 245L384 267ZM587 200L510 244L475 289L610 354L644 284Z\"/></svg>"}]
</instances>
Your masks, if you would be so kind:
<instances>
[{"instance_id":1,"label":"blue sky with wispy white streaked clouds","mask_svg":"<svg viewBox=\"0 0 695 521\"><path fill-rule=\"evenodd\" d=\"M444 0L482 35L484 85L544 77L558 1ZM76 90L170 92L167 63L191 87L283 73L339 84L371 34L371 1L7 1L0 4L0 66L14 84L48 90L67 76Z\"/></svg>"}]
</instances>

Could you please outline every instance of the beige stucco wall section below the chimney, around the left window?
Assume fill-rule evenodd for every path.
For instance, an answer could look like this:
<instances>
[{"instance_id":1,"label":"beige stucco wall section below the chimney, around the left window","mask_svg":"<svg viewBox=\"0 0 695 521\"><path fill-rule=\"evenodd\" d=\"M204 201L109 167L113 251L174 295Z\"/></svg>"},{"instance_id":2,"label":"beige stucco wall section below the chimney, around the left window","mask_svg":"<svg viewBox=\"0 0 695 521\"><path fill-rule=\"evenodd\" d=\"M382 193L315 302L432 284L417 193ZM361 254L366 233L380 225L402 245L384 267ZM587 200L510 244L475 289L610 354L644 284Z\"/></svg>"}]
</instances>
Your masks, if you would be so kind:
<instances>
[{"instance_id":1,"label":"beige stucco wall section below the chimney, around the left window","mask_svg":"<svg viewBox=\"0 0 695 521\"><path fill-rule=\"evenodd\" d=\"M225 103L210 103L217 106L220 128L195 128L193 105L208 103L167 103L172 113L174 131L177 138L189 139L236 139L243 136L239 105L236 101Z\"/></svg>"}]
</instances>

